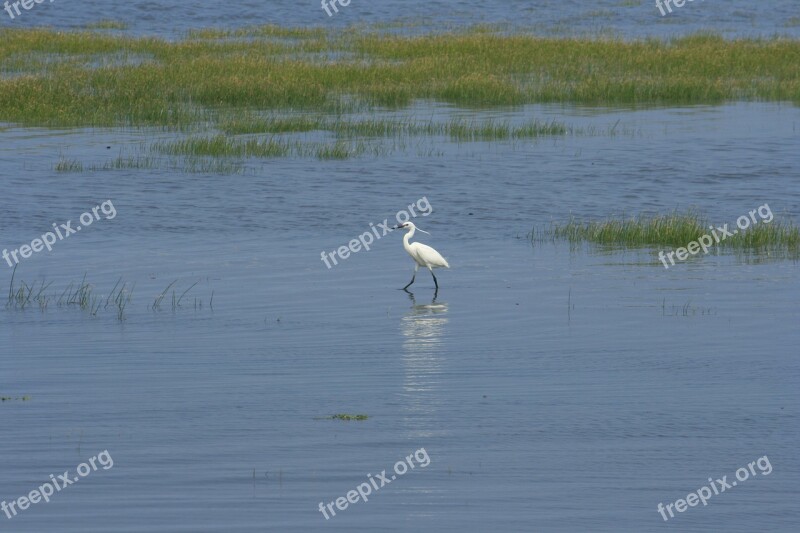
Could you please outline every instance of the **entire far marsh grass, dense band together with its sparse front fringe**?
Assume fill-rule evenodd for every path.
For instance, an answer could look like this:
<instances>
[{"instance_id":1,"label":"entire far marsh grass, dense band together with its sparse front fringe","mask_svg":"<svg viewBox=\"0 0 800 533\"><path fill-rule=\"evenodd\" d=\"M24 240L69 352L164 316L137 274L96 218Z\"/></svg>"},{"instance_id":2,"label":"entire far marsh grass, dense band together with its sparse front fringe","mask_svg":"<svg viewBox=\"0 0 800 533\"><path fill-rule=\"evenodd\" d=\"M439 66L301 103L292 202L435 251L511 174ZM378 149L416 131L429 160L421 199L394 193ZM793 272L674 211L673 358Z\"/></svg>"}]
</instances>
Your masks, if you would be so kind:
<instances>
[{"instance_id":1,"label":"entire far marsh grass, dense band together with its sparse front fringe","mask_svg":"<svg viewBox=\"0 0 800 533\"><path fill-rule=\"evenodd\" d=\"M96 29L116 26L105 21ZM707 33L669 41L552 38L507 25L414 34L380 29L212 28L175 41L90 30L3 29L0 122L155 127L191 135L149 147L167 158L120 156L84 165L62 157L54 164L59 172L170 168L230 174L244 171L242 158L383 155L405 147L411 137L463 143L618 134L617 125L603 131L538 120L420 122L343 115L374 114L419 100L477 110L548 102L800 104L800 41L793 39L727 40ZM221 134L197 135L209 130ZM329 136L333 142L304 135Z\"/></svg>"}]
</instances>

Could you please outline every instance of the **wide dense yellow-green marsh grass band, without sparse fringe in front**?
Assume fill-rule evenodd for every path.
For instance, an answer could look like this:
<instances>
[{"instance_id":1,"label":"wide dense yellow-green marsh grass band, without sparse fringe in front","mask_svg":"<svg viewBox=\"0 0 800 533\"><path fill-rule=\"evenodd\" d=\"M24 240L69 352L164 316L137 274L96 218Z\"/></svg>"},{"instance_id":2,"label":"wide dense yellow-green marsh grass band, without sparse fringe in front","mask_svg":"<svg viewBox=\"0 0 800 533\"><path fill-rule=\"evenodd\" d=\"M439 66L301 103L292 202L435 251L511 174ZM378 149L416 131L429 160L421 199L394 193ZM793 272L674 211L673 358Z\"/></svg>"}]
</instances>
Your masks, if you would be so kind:
<instances>
[{"instance_id":1,"label":"wide dense yellow-green marsh grass band, without sparse fringe in front","mask_svg":"<svg viewBox=\"0 0 800 533\"><path fill-rule=\"evenodd\" d=\"M96 60L120 55L141 60ZM47 66L43 56L52 59ZM780 37L623 41L491 28L397 35L261 26L166 41L0 30L0 72L25 64L24 74L0 78L0 121L179 129L211 112L224 123L244 110L330 112L355 105L368 111L415 100L473 108L800 103L800 41Z\"/></svg>"}]
</instances>

